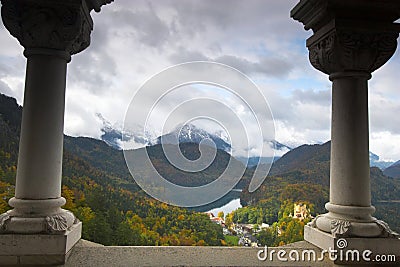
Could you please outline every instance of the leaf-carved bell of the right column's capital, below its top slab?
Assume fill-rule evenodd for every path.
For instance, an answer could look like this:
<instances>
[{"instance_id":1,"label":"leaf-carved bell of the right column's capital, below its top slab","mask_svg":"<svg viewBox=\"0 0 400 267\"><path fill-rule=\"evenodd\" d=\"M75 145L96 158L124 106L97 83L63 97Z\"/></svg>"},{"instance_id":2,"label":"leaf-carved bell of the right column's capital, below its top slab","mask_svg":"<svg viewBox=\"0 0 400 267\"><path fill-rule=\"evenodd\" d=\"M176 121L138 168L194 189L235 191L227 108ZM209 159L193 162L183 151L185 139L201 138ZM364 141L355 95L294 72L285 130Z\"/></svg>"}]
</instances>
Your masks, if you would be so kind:
<instances>
[{"instance_id":1,"label":"leaf-carved bell of the right column's capital, below its top slab","mask_svg":"<svg viewBox=\"0 0 400 267\"><path fill-rule=\"evenodd\" d=\"M397 37L397 32L390 31L332 29L308 44L309 59L316 69L326 74L343 71L372 73L394 54Z\"/></svg>"}]
</instances>

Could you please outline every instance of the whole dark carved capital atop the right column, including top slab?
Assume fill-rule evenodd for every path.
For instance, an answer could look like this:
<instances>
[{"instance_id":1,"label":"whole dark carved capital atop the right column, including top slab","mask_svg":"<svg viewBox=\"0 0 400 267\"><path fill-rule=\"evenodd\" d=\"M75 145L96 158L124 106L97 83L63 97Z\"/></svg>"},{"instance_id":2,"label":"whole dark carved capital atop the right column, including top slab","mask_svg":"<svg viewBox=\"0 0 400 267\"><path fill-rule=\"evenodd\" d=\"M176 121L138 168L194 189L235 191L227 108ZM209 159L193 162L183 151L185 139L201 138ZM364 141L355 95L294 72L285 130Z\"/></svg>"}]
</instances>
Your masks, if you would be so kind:
<instances>
[{"instance_id":1,"label":"whole dark carved capital atop the right column, including top slab","mask_svg":"<svg viewBox=\"0 0 400 267\"><path fill-rule=\"evenodd\" d=\"M309 59L326 74L370 74L396 51L398 0L300 0L290 15L313 30L307 40Z\"/></svg>"}]
</instances>

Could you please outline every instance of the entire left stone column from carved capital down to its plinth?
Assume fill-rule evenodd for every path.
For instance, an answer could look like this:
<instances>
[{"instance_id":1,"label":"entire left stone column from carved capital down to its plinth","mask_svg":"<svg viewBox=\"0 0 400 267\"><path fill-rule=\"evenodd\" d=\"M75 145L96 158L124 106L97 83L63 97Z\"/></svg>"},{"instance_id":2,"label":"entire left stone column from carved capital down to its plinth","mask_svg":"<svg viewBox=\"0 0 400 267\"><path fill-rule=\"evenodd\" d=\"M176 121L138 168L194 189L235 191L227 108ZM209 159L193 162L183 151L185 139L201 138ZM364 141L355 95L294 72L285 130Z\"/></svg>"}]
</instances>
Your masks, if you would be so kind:
<instances>
[{"instance_id":1,"label":"entire left stone column from carved capital down to its plinth","mask_svg":"<svg viewBox=\"0 0 400 267\"><path fill-rule=\"evenodd\" d=\"M1 1L3 23L25 48L27 67L15 197L9 201L14 209L0 215L0 262L62 263L80 239L81 223L61 209L66 71L71 55L89 46L90 11L103 2L109 1Z\"/></svg>"}]
</instances>

